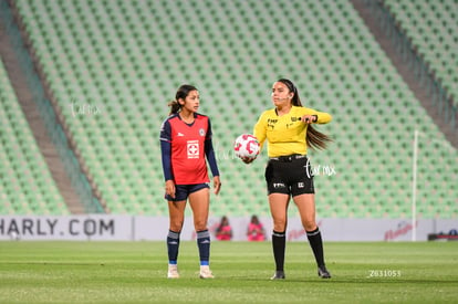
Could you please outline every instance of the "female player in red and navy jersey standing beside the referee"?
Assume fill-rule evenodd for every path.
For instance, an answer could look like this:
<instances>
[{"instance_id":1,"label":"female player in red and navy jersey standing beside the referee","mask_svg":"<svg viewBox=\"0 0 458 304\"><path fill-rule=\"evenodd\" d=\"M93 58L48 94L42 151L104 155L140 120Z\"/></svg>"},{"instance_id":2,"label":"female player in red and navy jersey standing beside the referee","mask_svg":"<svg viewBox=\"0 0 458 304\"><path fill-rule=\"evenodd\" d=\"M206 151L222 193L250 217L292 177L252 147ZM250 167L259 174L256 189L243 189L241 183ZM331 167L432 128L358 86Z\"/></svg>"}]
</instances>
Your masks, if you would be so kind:
<instances>
[{"instance_id":1,"label":"female player in red and navy jersey standing beside the referee","mask_svg":"<svg viewBox=\"0 0 458 304\"><path fill-rule=\"evenodd\" d=\"M212 279L209 268L210 233L207 228L210 203L209 178L205 157L214 176L214 189L221 188L219 170L211 143L208 116L198 114L199 92L192 85L181 85L175 101L169 103L170 116L160 127L160 150L165 177L165 198L168 201L169 232L167 235L167 277L178 279L179 235L185 220L186 201L194 216L201 279Z\"/></svg>"}]
</instances>

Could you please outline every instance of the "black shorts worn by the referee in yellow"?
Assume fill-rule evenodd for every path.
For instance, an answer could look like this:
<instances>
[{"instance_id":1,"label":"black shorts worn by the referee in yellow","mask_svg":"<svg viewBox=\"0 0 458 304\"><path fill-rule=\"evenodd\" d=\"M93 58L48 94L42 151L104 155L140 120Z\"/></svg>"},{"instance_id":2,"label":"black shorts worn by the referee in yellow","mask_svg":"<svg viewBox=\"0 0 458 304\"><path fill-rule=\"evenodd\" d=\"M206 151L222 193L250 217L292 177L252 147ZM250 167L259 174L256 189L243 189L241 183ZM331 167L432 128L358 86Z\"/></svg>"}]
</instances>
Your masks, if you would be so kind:
<instances>
[{"instance_id":1,"label":"black shorts worn by the referee in yellow","mask_svg":"<svg viewBox=\"0 0 458 304\"><path fill-rule=\"evenodd\" d=\"M292 197L314 193L313 174L305 155L270 158L266 168L268 193L284 193Z\"/></svg>"}]
</instances>

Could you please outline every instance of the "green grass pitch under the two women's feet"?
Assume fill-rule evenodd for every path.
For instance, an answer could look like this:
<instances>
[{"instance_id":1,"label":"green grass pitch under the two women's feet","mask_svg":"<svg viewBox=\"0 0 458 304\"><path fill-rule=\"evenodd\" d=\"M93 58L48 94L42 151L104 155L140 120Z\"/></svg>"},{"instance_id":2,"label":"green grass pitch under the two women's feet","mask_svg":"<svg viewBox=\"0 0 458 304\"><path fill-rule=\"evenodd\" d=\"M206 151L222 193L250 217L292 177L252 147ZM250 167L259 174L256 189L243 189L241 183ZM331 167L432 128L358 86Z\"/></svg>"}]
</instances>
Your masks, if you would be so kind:
<instances>
[{"instance_id":1,"label":"green grass pitch under the two women's feet","mask_svg":"<svg viewBox=\"0 0 458 304\"><path fill-rule=\"evenodd\" d=\"M167 280L165 242L0 242L0 303L457 303L458 242L326 242L322 280L306 242L287 243L270 281L270 242L211 243L215 280L181 242Z\"/></svg>"}]
</instances>

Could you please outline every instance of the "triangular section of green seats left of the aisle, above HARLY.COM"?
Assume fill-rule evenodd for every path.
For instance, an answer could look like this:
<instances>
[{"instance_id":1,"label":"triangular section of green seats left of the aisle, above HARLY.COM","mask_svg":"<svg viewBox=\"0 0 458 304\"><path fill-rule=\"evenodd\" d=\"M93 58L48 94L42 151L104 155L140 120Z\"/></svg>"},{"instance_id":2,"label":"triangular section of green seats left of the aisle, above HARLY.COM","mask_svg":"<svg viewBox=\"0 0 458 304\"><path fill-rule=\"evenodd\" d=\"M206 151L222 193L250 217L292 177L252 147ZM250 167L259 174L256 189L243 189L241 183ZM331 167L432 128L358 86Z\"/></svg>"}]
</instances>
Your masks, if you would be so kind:
<instances>
[{"instance_id":1,"label":"triangular section of green seats left of the aisle, above HARLY.COM","mask_svg":"<svg viewBox=\"0 0 458 304\"><path fill-rule=\"evenodd\" d=\"M0 61L0 214L67 214Z\"/></svg>"}]
</instances>

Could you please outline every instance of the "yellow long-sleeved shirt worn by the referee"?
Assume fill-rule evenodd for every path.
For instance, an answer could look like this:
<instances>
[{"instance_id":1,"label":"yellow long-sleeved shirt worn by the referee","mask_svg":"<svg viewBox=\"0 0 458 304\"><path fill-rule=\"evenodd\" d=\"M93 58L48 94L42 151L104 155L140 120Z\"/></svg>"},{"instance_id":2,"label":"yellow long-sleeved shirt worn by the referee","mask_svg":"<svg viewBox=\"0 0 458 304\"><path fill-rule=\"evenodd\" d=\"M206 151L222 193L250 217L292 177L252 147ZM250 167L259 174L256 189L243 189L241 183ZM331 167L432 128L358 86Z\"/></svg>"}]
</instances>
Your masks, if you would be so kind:
<instances>
[{"instance_id":1,"label":"yellow long-sleeved shirt worn by the referee","mask_svg":"<svg viewBox=\"0 0 458 304\"><path fill-rule=\"evenodd\" d=\"M325 112L318 112L302 106L292 106L290 113L278 116L275 108L261 114L254 126L253 135L262 145L268 139L269 157L279 157L291 154L306 155L308 124L301 122L304 115L316 115L315 124L327 124L332 116Z\"/></svg>"}]
</instances>

